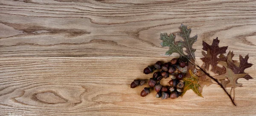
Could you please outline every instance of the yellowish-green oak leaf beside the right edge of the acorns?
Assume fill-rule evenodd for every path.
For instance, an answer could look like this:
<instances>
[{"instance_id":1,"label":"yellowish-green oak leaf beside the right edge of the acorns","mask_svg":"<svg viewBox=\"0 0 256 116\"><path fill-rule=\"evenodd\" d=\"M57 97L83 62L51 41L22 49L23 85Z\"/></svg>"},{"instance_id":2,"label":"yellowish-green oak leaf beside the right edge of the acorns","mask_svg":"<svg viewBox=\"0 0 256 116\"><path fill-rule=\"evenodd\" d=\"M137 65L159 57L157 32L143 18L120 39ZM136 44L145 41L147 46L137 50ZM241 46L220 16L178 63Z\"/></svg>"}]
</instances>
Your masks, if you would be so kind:
<instances>
[{"instance_id":1,"label":"yellowish-green oak leaf beside the right edge of the acorns","mask_svg":"<svg viewBox=\"0 0 256 116\"><path fill-rule=\"evenodd\" d=\"M183 78L185 85L183 88L183 92L180 96L182 97L186 93L186 91L188 91L189 89L192 89L195 92L195 94L197 94L200 97L203 97L201 92L198 90L198 87L200 87L198 83L198 76L196 76L190 69L189 69L189 74L191 78L187 78L187 77Z\"/></svg>"}]
</instances>

